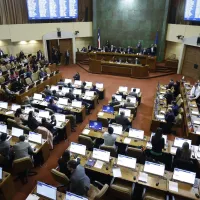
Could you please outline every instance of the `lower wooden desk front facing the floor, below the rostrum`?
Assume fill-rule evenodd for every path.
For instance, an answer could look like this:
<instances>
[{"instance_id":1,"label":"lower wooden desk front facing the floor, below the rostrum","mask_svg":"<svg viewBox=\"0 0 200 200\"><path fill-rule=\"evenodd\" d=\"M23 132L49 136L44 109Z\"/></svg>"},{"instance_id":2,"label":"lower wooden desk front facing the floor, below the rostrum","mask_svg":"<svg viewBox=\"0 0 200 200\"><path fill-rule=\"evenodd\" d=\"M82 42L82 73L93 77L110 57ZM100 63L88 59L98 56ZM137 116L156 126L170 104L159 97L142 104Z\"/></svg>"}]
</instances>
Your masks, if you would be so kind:
<instances>
[{"instance_id":1,"label":"lower wooden desk front facing the floor, below the rostrum","mask_svg":"<svg viewBox=\"0 0 200 200\"><path fill-rule=\"evenodd\" d=\"M145 78L149 76L149 66L116 63L101 60L89 60L89 70L97 74L114 74L132 78Z\"/></svg>"}]
</instances>

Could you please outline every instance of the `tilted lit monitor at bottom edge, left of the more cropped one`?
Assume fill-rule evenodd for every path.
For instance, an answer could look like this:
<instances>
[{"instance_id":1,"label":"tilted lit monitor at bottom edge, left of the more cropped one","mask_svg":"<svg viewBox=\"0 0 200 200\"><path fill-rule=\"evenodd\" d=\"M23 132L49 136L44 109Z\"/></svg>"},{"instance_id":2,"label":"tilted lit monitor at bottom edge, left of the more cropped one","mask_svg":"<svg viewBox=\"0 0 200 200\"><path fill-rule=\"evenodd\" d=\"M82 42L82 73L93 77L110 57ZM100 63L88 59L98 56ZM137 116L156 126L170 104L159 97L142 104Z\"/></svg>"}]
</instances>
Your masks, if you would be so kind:
<instances>
[{"instance_id":1,"label":"tilted lit monitor at bottom edge, left of the more cropped one","mask_svg":"<svg viewBox=\"0 0 200 200\"><path fill-rule=\"evenodd\" d=\"M40 181L37 182L36 193L52 200L57 199L57 188Z\"/></svg>"}]
</instances>

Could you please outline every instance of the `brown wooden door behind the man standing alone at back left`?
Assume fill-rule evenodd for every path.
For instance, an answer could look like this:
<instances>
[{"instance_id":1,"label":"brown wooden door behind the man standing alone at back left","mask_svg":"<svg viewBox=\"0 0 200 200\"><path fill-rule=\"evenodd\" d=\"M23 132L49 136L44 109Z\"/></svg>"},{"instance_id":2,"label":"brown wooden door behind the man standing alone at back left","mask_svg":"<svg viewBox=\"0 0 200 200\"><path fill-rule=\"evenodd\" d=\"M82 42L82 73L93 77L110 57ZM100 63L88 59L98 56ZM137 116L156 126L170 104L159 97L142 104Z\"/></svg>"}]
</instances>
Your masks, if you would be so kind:
<instances>
[{"instance_id":1,"label":"brown wooden door behind the man standing alone at back left","mask_svg":"<svg viewBox=\"0 0 200 200\"><path fill-rule=\"evenodd\" d=\"M65 65L65 52L68 50L70 59L69 63L73 63L73 47L72 47L72 39L60 39L60 53L61 53L61 64Z\"/></svg>"}]
</instances>

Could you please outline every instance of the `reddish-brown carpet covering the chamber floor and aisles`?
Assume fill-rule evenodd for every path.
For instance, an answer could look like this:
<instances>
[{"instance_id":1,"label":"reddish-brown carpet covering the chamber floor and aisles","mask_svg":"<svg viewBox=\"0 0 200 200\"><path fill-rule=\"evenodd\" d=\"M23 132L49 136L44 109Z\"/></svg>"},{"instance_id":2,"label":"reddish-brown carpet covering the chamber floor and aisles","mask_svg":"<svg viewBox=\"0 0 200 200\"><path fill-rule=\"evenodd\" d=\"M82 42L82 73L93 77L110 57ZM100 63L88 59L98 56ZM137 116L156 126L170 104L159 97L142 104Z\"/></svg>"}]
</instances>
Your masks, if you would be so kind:
<instances>
[{"instance_id":1,"label":"reddish-brown carpet covering the chamber floor and aisles","mask_svg":"<svg viewBox=\"0 0 200 200\"><path fill-rule=\"evenodd\" d=\"M104 83L104 87L106 88L105 99L100 101L98 108L92 110L92 114L89 115L85 121L78 125L76 128L76 132L72 133L70 137L71 141L76 141L78 135L83 130L85 125L88 123L90 119L96 119L96 114L102 105L107 104L111 95L116 92L118 87L128 86L129 89L132 87L138 87L142 91L142 102L138 108L136 119L133 121L133 127L142 129L145 131L145 135L150 134L150 124L152 117L152 109L153 109L153 100L156 91L156 85L158 81L160 83L167 84L169 79L180 80L181 75L171 75L154 79L131 79L126 77L119 76L111 76L111 75L93 75L77 65L70 65L60 67L60 71L62 72L63 78L72 78L72 76L78 71L81 75L82 81L92 81L102 82ZM22 185L20 181L15 182L16 187L16 195L14 200L24 200L31 192L31 190L35 187L36 181L40 180L46 182L48 184L55 185L56 183L53 181L50 170L57 166L57 160L62 155L64 150L68 147L68 142L61 142L56 145L54 150L51 151L51 155L48 161L41 168L37 168L35 171L38 172L38 175L29 177L29 182L26 185Z\"/></svg>"}]
</instances>

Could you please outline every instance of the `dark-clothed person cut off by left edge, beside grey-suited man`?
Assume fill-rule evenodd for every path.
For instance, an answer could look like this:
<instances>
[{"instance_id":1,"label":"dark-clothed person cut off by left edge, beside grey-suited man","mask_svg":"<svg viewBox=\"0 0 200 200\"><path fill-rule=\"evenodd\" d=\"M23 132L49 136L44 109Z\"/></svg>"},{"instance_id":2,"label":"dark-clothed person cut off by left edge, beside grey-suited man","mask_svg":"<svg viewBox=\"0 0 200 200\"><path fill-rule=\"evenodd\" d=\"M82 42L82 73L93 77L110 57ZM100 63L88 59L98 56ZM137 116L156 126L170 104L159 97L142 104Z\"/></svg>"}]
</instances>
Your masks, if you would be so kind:
<instances>
[{"instance_id":1,"label":"dark-clothed person cut off by left edge, beside grey-suited man","mask_svg":"<svg viewBox=\"0 0 200 200\"><path fill-rule=\"evenodd\" d=\"M7 133L1 133L0 135L0 154L7 160L9 160L10 154L10 141L6 141Z\"/></svg>"}]
</instances>

